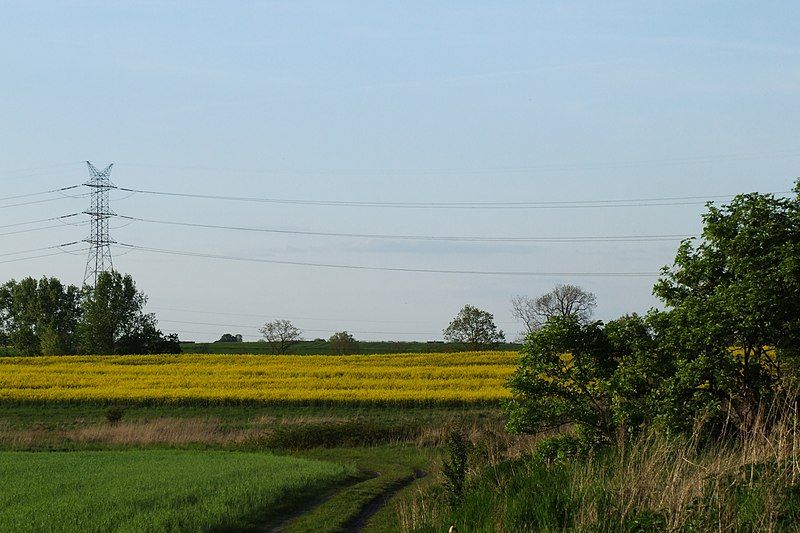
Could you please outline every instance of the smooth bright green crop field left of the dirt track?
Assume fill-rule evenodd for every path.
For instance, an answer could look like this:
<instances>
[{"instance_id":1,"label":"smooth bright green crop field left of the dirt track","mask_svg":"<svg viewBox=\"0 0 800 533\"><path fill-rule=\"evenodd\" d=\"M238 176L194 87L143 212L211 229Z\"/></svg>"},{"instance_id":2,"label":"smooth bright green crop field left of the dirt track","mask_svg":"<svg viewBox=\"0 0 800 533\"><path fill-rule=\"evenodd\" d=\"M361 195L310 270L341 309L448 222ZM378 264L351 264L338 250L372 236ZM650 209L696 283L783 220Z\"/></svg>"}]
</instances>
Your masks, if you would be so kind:
<instances>
[{"instance_id":1,"label":"smooth bright green crop field left of the dirt track","mask_svg":"<svg viewBox=\"0 0 800 533\"><path fill-rule=\"evenodd\" d=\"M265 453L0 452L0 531L251 529L357 475Z\"/></svg>"}]
</instances>

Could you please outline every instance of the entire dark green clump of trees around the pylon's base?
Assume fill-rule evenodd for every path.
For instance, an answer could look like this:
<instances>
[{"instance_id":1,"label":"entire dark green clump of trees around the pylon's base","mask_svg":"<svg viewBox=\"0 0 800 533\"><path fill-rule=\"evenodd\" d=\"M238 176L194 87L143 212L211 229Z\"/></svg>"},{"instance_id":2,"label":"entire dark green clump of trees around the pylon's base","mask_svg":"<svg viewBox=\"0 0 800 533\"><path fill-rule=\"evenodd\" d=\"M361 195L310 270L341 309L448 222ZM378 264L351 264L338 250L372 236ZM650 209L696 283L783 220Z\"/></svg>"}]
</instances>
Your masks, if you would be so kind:
<instances>
[{"instance_id":1,"label":"entire dark green clump of trees around the pylon's base","mask_svg":"<svg viewBox=\"0 0 800 533\"><path fill-rule=\"evenodd\" d=\"M13 355L179 353L130 275L103 272L95 287L57 278L24 278L0 286L0 348Z\"/></svg>"}]
</instances>

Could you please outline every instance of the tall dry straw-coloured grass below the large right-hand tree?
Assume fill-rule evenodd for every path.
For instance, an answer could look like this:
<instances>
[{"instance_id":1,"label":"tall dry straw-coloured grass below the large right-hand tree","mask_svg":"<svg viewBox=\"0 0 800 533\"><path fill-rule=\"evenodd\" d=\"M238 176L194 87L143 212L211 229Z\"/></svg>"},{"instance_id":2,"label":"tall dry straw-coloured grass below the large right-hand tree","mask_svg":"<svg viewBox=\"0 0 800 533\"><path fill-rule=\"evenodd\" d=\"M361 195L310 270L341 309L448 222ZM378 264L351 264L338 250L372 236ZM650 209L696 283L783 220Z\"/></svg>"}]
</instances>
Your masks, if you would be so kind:
<instances>
[{"instance_id":1,"label":"tall dry straw-coloured grass below the large right-hand tree","mask_svg":"<svg viewBox=\"0 0 800 533\"><path fill-rule=\"evenodd\" d=\"M669 530L781 530L786 490L800 474L797 429L792 398L759 409L747 432L712 443L702 438L703 424L684 438L651 433L632 443L621 439L608 460L585 461L574 471L572 491L580 502L576 527L588 529L611 518L600 490L619 524L647 510L662 516Z\"/></svg>"}]
</instances>

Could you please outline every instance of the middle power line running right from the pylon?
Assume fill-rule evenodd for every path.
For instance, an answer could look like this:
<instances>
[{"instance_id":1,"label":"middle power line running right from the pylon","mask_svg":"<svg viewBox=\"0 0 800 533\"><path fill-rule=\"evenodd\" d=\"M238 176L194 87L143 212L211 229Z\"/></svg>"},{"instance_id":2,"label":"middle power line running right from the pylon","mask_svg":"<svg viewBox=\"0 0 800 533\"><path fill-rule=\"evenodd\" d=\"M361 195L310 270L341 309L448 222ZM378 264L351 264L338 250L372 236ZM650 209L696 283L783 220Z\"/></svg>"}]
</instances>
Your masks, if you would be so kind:
<instances>
[{"instance_id":1,"label":"middle power line running right from the pylon","mask_svg":"<svg viewBox=\"0 0 800 533\"><path fill-rule=\"evenodd\" d=\"M139 218L126 215L117 215L119 218L135 222L148 222L192 228L223 229L233 231L249 231L261 233L276 233L282 235L307 235L322 237L347 237L359 239L389 239L413 241L446 241L446 242L501 242L501 243L563 243L563 242L654 242L654 241L680 241L697 235L616 235L616 236L585 236L585 237L477 237L477 236L435 236L435 235L385 235L377 233L335 233L327 231L301 231L283 230L274 228L255 228L248 226L225 226L216 224L199 224L192 222L179 222L172 220L156 220L152 218Z\"/></svg>"}]
</instances>

